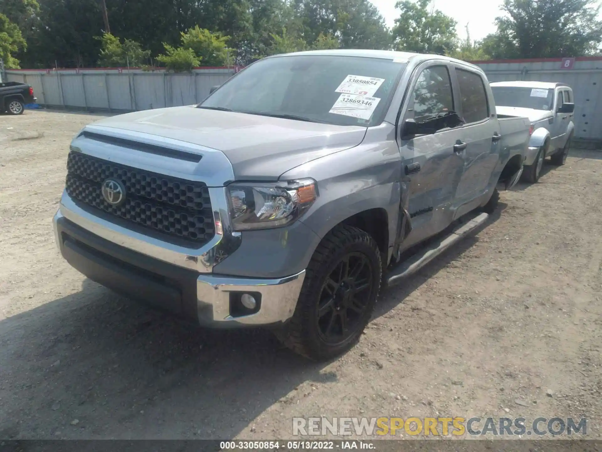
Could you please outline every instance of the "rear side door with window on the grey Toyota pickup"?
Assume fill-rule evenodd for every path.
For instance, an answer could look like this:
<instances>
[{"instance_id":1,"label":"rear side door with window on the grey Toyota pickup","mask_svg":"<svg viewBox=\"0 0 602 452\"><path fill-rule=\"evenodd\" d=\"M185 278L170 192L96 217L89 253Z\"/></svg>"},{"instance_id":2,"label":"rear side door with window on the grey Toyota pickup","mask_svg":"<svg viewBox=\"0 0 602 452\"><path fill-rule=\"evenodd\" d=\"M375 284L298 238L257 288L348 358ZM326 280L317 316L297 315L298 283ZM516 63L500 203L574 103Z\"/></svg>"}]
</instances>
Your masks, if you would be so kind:
<instances>
[{"instance_id":1,"label":"rear side door with window on the grey Toyota pickup","mask_svg":"<svg viewBox=\"0 0 602 452\"><path fill-rule=\"evenodd\" d=\"M454 204L459 207L478 198L488 187L491 172L498 162L500 126L494 105L489 105L482 74L465 66L454 67L460 94L464 171L456 191Z\"/></svg>"}]
</instances>

